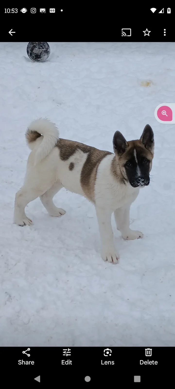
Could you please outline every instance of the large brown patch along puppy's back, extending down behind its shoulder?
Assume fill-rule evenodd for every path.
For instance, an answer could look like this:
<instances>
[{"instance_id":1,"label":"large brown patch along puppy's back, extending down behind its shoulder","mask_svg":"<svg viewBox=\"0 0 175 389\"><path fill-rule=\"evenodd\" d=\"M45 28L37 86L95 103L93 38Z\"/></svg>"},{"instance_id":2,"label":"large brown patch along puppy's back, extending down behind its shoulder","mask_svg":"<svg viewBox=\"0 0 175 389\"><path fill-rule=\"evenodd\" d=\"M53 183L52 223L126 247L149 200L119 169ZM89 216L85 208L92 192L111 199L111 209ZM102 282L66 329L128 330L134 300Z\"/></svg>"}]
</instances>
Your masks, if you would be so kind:
<instances>
[{"instance_id":1,"label":"large brown patch along puppy's back, extending down behind its shoulder","mask_svg":"<svg viewBox=\"0 0 175 389\"><path fill-rule=\"evenodd\" d=\"M99 150L80 142L61 138L59 138L56 146L59 148L59 156L62 161L66 161L78 150L87 154L80 175L80 183L85 196L89 198L91 202L94 202L94 184L98 166L102 159L107 155L112 154L112 152Z\"/></svg>"}]
</instances>

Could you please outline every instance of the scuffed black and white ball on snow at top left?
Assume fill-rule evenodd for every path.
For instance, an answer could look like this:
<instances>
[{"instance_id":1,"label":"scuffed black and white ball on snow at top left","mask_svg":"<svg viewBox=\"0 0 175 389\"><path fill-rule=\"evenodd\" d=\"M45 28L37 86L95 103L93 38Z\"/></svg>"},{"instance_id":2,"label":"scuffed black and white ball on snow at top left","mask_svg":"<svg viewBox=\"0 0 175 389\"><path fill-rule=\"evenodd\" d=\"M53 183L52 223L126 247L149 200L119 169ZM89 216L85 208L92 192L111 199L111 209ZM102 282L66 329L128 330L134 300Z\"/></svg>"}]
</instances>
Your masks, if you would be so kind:
<instances>
[{"instance_id":1,"label":"scuffed black and white ball on snow at top left","mask_svg":"<svg viewBox=\"0 0 175 389\"><path fill-rule=\"evenodd\" d=\"M49 58L51 49L47 42L29 42L27 45L28 57L37 62L44 62Z\"/></svg>"}]
</instances>

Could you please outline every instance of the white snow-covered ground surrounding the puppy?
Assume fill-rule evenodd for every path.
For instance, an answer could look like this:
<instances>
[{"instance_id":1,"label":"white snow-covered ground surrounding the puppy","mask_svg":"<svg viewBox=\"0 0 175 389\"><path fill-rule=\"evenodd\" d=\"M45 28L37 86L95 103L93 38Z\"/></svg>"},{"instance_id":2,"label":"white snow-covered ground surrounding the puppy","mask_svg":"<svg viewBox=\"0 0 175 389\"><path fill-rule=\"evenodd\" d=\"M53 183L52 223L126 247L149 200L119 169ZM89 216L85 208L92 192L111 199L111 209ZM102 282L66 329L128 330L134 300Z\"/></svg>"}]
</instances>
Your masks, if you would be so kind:
<instances>
[{"instance_id":1,"label":"white snow-covered ground surrounding the puppy","mask_svg":"<svg viewBox=\"0 0 175 389\"><path fill-rule=\"evenodd\" d=\"M27 43L0 43L0 345L175 346L175 126L154 118L175 102L175 44L49 42L34 63ZM118 265L100 257L93 205L65 189L54 198L65 216L37 199L33 226L13 224L39 117L108 151L116 130L131 140L152 126L152 181L131 207L144 238L124 241L112 220Z\"/></svg>"}]
</instances>

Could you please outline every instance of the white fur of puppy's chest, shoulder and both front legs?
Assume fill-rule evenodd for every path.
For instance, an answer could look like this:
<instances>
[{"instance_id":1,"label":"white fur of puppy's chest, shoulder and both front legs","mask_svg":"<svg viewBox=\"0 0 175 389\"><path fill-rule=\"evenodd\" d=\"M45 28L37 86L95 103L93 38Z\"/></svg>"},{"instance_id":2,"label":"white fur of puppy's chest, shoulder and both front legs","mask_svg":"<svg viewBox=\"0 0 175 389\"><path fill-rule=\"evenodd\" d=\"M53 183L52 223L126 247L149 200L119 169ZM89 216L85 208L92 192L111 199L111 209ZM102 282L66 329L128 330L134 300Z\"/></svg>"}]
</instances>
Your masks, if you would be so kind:
<instances>
[{"instance_id":1,"label":"white fur of puppy's chest, shoulder and both front legs","mask_svg":"<svg viewBox=\"0 0 175 389\"><path fill-rule=\"evenodd\" d=\"M139 188L117 182L110 172L114 155L106 156L100 163L95 184L95 206L101 235L101 256L108 262L117 263L119 254L115 250L111 216L114 212L118 230L124 239L143 237L139 231L129 228L129 209L131 203L137 198ZM128 211L126 211L128 210ZM139 236L140 235L140 236Z\"/></svg>"}]
</instances>

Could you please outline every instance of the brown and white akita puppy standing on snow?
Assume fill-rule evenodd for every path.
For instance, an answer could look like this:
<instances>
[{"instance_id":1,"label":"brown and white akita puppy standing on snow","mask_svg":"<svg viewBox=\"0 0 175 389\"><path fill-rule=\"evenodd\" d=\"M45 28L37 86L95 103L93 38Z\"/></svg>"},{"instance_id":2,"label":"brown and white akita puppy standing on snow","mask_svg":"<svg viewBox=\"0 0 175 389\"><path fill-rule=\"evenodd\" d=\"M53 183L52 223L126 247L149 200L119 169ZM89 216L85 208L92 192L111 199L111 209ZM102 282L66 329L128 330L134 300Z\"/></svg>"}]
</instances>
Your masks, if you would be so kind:
<instances>
[{"instance_id":1,"label":"brown and white akita puppy standing on snow","mask_svg":"<svg viewBox=\"0 0 175 389\"><path fill-rule=\"evenodd\" d=\"M55 124L47 119L34 121L26 131L32 152L28 157L23 187L16 193L14 223L32 224L26 205L40 197L51 216L65 214L53 197L65 187L86 197L95 205L101 237L101 257L117 263L119 254L113 242L111 215L124 239L142 238L129 228L129 209L140 187L149 185L154 156L154 135L147 124L139 140L126 141L121 132L113 138L114 153L59 138Z\"/></svg>"}]
</instances>

